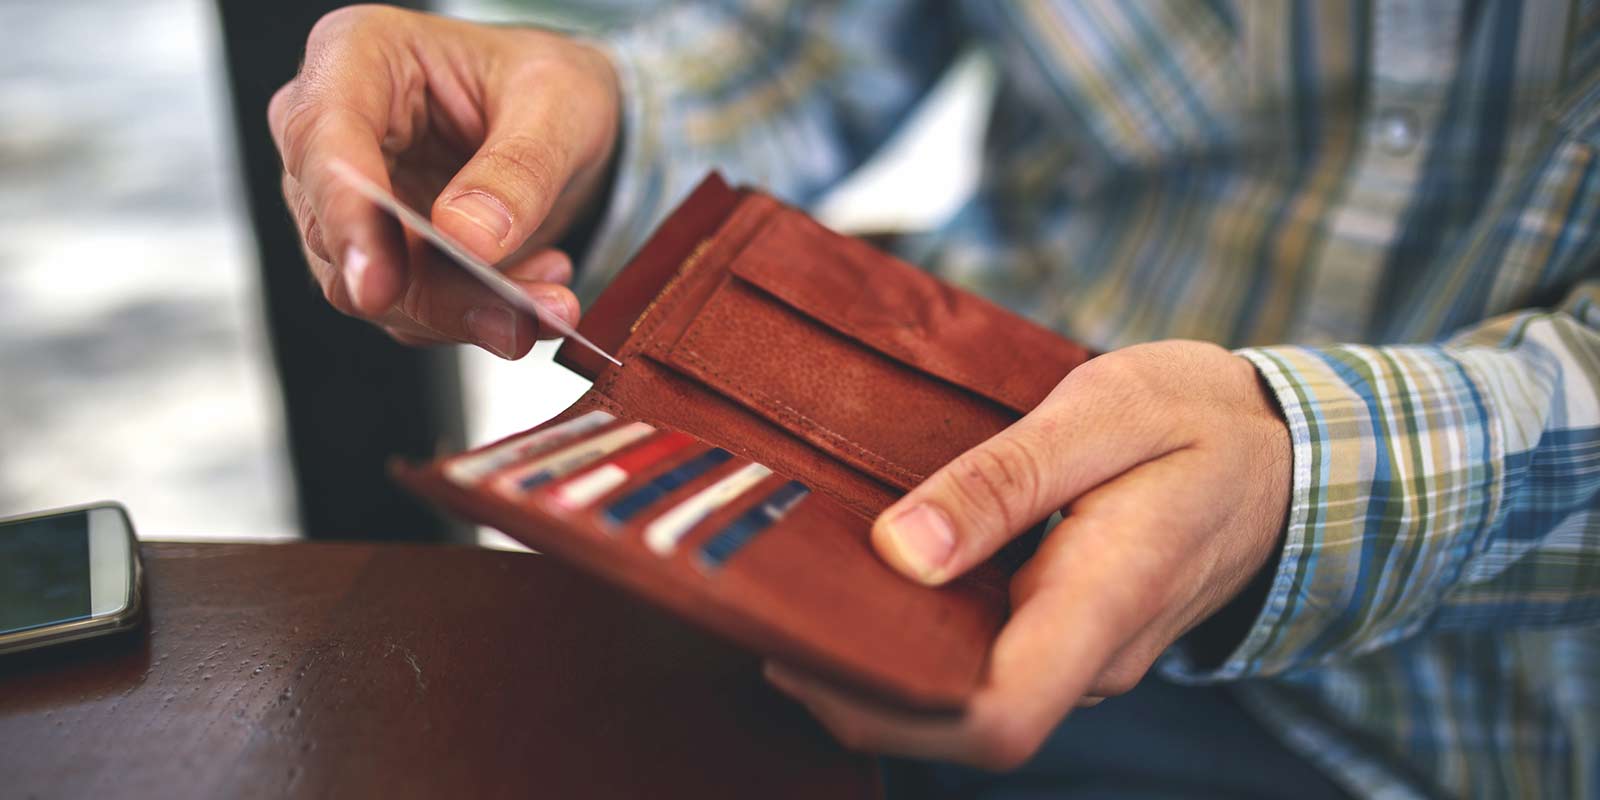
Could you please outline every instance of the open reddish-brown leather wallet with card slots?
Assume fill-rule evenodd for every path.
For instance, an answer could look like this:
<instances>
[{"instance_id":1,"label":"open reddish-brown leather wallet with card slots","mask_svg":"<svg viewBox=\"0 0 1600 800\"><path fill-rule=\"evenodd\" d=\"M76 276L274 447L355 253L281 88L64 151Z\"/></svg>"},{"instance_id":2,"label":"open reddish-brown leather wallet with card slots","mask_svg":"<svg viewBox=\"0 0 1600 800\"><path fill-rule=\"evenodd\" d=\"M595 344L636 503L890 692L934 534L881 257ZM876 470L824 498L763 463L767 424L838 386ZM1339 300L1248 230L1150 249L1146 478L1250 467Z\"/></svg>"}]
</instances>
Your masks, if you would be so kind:
<instances>
[{"instance_id":1,"label":"open reddish-brown leather wallet with card slots","mask_svg":"<svg viewBox=\"0 0 1600 800\"><path fill-rule=\"evenodd\" d=\"M1026 552L1002 552L931 589L874 554L870 523L1038 405L1090 357L1083 347L715 174L592 304L579 331L622 366L563 344L557 360L594 386L534 430L598 410L618 418L613 429L642 421L688 434L696 446L582 509L539 493L518 498L515 486L496 490L482 475L451 477L453 459L504 451L530 434L421 467L400 464L400 480L763 656L917 709L958 709L971 696ZM706 453L726 459L677 485L678 467L722 458ZM773 475L699 520L669 554L645 544L651 518L749 462ZM624 499L637 510L638 494L656 502L606 517ZM760 522L760 504L778 494L792 507L752 533L749 517Z\"/></svg>"}]
</instances>

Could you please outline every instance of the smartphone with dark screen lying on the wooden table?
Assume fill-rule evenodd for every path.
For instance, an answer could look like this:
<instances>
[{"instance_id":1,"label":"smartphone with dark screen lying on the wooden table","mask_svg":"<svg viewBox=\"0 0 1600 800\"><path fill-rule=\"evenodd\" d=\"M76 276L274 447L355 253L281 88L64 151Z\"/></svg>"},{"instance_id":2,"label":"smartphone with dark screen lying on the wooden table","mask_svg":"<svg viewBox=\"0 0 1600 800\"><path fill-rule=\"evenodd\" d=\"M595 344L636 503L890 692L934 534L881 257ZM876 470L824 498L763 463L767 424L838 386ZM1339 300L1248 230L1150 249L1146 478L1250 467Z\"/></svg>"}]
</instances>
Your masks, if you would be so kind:
<instances>
[{"instance_id":1,"label":"smartphone with dark screen lying on the wooden table","mask_svg":"<svg viewBox=\"0 0 1600 800\"><path fill-rule=\"evenodd\" d=\"M117 502L0 518L0 653L136 627L141 578Z\"/></svg>"}]
</instances>

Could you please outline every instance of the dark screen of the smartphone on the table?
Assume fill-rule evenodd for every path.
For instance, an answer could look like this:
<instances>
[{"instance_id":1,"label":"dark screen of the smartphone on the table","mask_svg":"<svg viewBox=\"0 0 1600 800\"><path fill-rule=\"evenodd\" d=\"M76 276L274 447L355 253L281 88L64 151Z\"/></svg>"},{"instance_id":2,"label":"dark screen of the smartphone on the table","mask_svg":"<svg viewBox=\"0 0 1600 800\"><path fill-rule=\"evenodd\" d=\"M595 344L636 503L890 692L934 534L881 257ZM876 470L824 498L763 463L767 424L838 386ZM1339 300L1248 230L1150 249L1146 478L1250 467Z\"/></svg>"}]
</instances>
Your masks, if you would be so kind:
<instances>
[{"instance_id":1,"label":"dark screen of the smartphone on the table","mask_svg":"<svg viewBox=\"0 0 1600 800\"><path fill-rule=\"evenodd\" d=\"M86 510L0 525L0 634L88 618Z\"/></svg>"}]
</instances>

